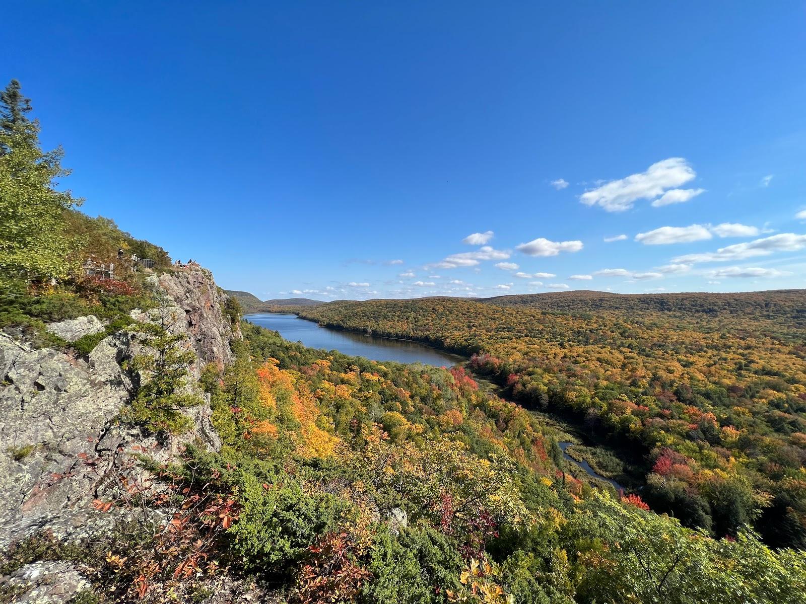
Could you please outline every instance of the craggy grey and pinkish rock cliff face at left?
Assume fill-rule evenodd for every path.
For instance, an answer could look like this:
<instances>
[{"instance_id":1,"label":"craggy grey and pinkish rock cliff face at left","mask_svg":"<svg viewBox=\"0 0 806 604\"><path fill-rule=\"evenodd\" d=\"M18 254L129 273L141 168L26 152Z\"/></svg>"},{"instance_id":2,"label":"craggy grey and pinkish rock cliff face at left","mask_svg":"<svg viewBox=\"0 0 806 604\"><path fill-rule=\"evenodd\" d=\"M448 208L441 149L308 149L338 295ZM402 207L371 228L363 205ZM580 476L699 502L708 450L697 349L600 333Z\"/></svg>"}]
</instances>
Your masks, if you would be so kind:
<instances>
[{"instance_id":1,"label":"craggy grey and pinkish rock cliff face at left","mask_svg":"<svg viewBox=\"0 0 806 604\"><path fill-rule=\"evenodd\" d=\"M232 362L230 343L240 337L222 315L226 295L202 268L150 275L147 283L159 307L131 316L187 336L183 345L196 358L189 388L201 394L202 367ZM93 499L114 499L119 469L134 466L127 461L141 447L162 460L188 441L218 449L209 395L185 410L193 420L185 435L156 441L115 421L137 381L121 364L142 352L136 334L125 331L104 338L86 358L35 350L0 332L0 548L44 530L73 540L108 527L110 515L95 511Z\"/></svg>"}]
</instances>

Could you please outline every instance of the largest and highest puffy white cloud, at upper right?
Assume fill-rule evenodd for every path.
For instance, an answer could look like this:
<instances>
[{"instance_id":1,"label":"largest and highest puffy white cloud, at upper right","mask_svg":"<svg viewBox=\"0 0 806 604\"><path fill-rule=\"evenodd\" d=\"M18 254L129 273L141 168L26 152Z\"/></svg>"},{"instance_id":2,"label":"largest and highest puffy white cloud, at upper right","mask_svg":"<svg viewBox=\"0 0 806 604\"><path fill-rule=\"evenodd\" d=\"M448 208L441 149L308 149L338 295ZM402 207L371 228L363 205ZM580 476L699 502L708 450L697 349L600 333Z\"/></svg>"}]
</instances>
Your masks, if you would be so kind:
<instances>
[{"instance_id":1,"label":"largest and highest puffy white cloud, at upper right","mask_svg":"<svg viewBox=\"0 0 806 604\"><path fill-rule=\"evenodd\" d=\"M608 212L623 212L639 199L660 197L668 189L678 188L696 177L696 172L682 157L653 163L646 172L611 180L580 195L585 205L600 205Z\"/></svg>"}]
</instances>

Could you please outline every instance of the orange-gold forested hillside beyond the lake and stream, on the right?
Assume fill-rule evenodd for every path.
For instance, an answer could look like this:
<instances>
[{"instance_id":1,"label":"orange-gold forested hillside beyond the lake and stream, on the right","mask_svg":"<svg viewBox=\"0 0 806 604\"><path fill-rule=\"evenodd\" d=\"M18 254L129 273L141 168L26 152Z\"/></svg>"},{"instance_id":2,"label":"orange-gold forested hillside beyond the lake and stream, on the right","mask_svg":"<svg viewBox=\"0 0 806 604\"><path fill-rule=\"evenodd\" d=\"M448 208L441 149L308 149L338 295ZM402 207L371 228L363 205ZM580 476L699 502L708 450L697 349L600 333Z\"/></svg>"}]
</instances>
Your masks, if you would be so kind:
<instances>
[{"instance_id":1,"label":"orange-gold forested hillside beyond the lake and stream, on the right","mask_svg":"<svg viewBox=\"0 0 806 604\"><path fill-rule=\"evenodd\" d=\"M472 354L474 370L527 406L638 447L654 510L715 536L747 523L803 548L804 303L804 291L584 292L339 302L302 316Z\"/></svg>"}]
</instances>

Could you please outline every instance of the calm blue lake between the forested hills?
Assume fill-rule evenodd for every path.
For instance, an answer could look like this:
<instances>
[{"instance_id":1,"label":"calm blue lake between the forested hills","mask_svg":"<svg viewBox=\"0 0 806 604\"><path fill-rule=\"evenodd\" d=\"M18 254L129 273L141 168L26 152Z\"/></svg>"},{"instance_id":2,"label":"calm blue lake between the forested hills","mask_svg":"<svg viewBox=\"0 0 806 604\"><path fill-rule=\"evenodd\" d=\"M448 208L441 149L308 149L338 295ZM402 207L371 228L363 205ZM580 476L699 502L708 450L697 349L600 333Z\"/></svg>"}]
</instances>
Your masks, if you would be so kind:
<instances>
[{"instance_id":1,"label":"calm blue lake between the forested hills","mask_svg":"<svg viewBox=\"0 0 806 604\"><path fill-rule=\"evenodd\" d=\"M342 354L370 358L373 361L450 367L464 360L462 357L440 352L419 342L320 327L314 321L305 321L296 315L256 312L243 318L260 327L279 332L286 340L300 341L310 348L338 350Z\"/></svg>"}]
</instances>

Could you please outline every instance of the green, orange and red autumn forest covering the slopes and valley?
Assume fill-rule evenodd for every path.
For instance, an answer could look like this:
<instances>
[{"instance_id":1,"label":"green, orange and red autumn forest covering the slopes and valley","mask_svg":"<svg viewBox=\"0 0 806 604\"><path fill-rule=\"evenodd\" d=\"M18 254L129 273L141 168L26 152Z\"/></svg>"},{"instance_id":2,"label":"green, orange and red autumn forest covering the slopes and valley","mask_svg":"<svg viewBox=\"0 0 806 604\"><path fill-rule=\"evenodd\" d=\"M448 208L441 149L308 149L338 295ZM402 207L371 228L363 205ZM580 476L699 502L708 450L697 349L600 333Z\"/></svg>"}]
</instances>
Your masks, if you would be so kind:
<instances>
[{"instance_id":1,"label":"green, orange and red autumn forest covering the slopes and valley","mask_svg":"<svg viewBox=\"0 0 806 604\"><path fill-rule=\"evenodd\" d=\"M85 604L223 602L224 577L266 602L806 601L804 290L280 308L468 359L452 367L285 341L238 302L282 300L216 290L231 362L200 368L173 323L143 317L167 308L160 275L209 271L80 213L18 82L0 106L2 337L80 366L104 338L136 339L114 427L155 448L193 436L168 461L138 449L148 489L99 491L108 535L44 531L0 554L0 575L81 562ZM100 331L48 330L89 315ZM207 403L215 448L189 412ZM563 457L569 438L627 488Z\"/></svg>"}]
</instances>

